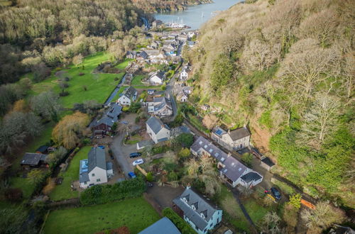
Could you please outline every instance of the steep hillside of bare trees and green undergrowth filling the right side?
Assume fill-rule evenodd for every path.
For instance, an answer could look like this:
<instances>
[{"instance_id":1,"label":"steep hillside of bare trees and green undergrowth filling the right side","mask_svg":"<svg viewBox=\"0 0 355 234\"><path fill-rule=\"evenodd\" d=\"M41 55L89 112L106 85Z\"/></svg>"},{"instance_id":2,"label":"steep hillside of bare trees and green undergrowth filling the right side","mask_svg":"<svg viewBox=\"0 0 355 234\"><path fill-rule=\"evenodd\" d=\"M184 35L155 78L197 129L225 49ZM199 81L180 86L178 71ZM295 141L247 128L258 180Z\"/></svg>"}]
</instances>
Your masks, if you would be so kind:
<instances>
[{"instance_id":1,"label":"steep hillside of bare trees and green undergrowth filling the right side","mask_svg":"<svg viewBox=\"0 0 355 234\"><path fill-rule=\"evenodd\" d=\"M351 0L260 0L206 23L187 57L193 100L315 197L354 203L354 12Z\"/></svg>"}]
</instances>

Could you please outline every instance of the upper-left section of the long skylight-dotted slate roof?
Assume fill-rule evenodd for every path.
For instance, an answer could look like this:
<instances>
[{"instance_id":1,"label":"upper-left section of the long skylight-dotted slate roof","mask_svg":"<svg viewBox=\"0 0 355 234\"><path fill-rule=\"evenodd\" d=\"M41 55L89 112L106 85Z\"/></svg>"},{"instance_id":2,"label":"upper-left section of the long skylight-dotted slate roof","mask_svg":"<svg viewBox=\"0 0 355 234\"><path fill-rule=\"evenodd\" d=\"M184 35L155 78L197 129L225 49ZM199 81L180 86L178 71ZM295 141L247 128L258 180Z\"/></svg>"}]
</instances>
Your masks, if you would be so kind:
<instances>
[{"instance_id":1,"label":"upper-left section of the long skylight-dotted slate roof","mask_svg":"<svg viewBox=\"0 0 355 234\"><path fill-rule=\"evenodd\" d=\"M209 140L206 138L200 136L197 138L197 140L195 140L195 143L191 145L191 150L200 153L202 149L207 151L212 157L222 163L228 157L228 155L223 150L209 142Z\"/></svg>"}]
</instances>

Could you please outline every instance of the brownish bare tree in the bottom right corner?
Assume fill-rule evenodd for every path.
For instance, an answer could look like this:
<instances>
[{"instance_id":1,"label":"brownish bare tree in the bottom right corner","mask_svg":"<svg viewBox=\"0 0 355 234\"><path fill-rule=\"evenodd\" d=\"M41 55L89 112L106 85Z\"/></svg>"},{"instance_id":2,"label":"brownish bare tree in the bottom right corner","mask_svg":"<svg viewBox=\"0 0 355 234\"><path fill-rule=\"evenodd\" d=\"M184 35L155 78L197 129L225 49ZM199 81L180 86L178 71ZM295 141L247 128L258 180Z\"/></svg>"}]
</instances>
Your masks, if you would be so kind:
<instances>
[{"instance_id":1,"label":"brownish bare tree in the bottom right corner","mask_svg":"<svg viewBox=\"0 0 355 234\"><path fill-rule=\"evenodd\" d=\"M335 208L329 201L319 201L315 209L304 209L301 217L305 221L307 228L320 228L324 230L334 223L342 223L345 220L344 211Z\"/></svg>"}]
</instances>

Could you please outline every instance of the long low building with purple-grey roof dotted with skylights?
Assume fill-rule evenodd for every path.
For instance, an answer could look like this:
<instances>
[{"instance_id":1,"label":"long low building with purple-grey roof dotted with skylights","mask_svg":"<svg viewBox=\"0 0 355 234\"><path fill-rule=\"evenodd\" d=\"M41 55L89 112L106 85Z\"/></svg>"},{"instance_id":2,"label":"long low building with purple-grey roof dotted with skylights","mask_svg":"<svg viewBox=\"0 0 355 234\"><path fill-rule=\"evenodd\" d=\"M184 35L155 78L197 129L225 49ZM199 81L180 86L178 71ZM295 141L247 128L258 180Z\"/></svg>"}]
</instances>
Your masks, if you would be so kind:
<instances>
[{"instance_id":1,"label":"long low building with purple-grey roof dotted with skylights","mask_svg":"<svg viewBox=\"0 0 355 234\"><path fill-rule=\"evenodd\" d=\"M209 156L214 157L217 161L219 174L231 186L256 186L263 180L263 176L254 172L249 167L236 160L231 153L226 153L219 149L216 145L209 142L206 138L200 136L195 143L191 145L192 155L197 157Z\"/></svg>"}]
</instances>

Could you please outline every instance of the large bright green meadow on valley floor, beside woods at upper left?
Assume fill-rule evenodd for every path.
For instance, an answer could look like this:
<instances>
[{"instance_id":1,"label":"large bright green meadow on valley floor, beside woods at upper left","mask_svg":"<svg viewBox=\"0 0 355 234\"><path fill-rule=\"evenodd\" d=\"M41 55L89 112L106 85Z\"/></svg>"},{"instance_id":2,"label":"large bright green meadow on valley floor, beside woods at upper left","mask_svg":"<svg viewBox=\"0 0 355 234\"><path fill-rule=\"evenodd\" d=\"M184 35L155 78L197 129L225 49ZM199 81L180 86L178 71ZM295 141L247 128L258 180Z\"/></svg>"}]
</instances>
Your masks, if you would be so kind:
<instances>
[{"instance_id":1,"label":"large bright green meadow on valley floor, beside woods at upper left","mask_svg":"<svg viewBox=\"0 0 355 234\"><path fill-rule=\"evenodd\" d=\"M60 77L55 76L53 72L52 76L45 79L43 82L33 84L32 94L39 94L43 91L53 89L53 91L60 93L60 87L58 86L58 79L69 77L67 82L69 87L65 91L69 92L68 96L60 98L62 105L65 108L72 108L75 103L82 103L86 100L96 100L99 103L103 103L111 91L114 90L119 80L123 77L124 72L119 74L93 74L93 70L102 62L109 60L109 53L98 52L95 55L85 57L82 64L70 65L65 69L62 69ZM124 64L122 62L121 64ZM120 66L119 64L118 66ZM122 65L124 66L124 65ZM29 76L28 76L29 77ZM118 78L118 80L114 80ZM84 90L84 87L87 89Z\"/></svg>"}]
</instances>

